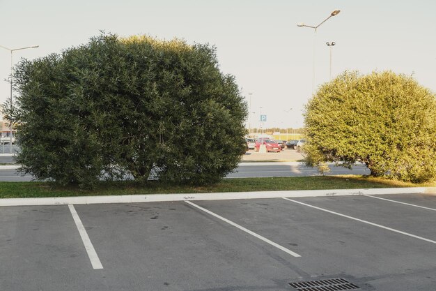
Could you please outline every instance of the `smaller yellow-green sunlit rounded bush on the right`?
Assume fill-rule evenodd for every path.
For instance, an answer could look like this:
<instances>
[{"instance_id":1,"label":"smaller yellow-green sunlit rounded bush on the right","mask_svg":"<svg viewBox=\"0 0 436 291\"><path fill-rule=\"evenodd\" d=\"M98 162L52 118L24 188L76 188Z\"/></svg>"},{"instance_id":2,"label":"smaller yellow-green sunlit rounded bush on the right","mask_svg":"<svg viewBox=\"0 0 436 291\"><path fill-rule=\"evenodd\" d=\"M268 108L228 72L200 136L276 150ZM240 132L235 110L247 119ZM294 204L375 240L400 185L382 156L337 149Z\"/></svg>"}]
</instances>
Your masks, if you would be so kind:
<instances>
[{"instance_id":1,"label":"smaller yellow-green sunlit rounded bush on the right","mask_svg":"<svg viewBox=\"0 0 436 291\"><path fill-rule=\"evenodd\" d=\"M435 95L412 77L345 72L320 87L304 118L307 165L363 162L372 176L413 182L436 176Z\"/></svg>"}]
</instances>

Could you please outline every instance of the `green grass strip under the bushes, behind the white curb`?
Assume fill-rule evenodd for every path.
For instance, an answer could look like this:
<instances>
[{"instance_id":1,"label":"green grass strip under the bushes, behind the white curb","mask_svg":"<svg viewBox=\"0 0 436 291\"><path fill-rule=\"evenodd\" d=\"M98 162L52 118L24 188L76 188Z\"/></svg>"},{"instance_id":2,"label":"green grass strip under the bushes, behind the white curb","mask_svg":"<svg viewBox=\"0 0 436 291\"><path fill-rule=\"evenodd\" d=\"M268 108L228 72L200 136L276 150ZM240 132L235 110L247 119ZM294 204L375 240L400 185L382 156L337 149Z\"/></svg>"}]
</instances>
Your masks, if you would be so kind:
<instances>
[{"instance_id":1,"label":"green grass strip under the bushes, behind the white curb","mask_svg":"<svg viewBox=\"0 0 436 291\"><path fill-rule=\"evenodd\" d=\"M46 182L0 182L0 198L19 197L69 197L94 195L135 195L168 193L216 193L246 191L292 191L357 188L434 187L435 183L412 184L382 178L359 175L319 177L273 177L224 179L212 186L177 186L148 181L101 182L93 190L78 187L59 187Z\"/></svg>"}]
</instances>

